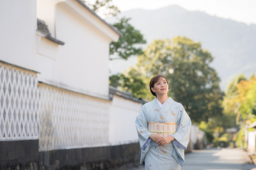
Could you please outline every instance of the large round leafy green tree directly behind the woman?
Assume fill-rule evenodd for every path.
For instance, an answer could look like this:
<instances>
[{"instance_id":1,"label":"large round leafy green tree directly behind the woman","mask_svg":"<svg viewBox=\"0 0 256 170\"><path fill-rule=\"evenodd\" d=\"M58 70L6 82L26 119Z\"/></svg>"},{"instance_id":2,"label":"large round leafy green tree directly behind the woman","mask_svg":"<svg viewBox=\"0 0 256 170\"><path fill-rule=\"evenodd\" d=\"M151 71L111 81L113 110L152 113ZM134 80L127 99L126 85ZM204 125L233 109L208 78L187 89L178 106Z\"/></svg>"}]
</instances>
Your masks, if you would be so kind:
<instances>
[{"instance_id":1,"label":"large round leafy green tree directly behind the woman","mask_svg":"<svg viewBox=\"0 0 256 170\"><path fill-rule=\"evenodd\" d=\"M199 42L177 36L172 41L152 42L138 57L137 66L143 70L145 79L157 73L166 75L169 95L184 105L191 120L207 122L222 114L223 93L220 78L209 66L212 60L211 53L202 49Z\"/></svg>"}]
</instances>

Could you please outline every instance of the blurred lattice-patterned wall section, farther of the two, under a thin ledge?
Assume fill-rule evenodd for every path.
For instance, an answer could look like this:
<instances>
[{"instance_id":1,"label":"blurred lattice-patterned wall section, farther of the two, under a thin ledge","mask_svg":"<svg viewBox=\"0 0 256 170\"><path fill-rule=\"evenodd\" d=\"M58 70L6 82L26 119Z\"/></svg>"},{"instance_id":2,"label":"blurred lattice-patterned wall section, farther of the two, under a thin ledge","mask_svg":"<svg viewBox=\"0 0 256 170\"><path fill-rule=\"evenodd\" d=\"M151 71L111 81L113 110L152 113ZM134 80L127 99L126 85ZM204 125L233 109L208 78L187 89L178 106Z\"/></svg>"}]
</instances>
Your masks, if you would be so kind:
<instances>
[{"instance_id":1,"label":"blurred lattice-patterned wall section, farther of the two, under a thin ledge","mask_svg":"<svg viewBox=\"0 0 256 170\"><path fill-rule=\"evenodd\" d=\"M110 101L39 84L39 150L108 145Z\"/></svg>"}]
</instances>

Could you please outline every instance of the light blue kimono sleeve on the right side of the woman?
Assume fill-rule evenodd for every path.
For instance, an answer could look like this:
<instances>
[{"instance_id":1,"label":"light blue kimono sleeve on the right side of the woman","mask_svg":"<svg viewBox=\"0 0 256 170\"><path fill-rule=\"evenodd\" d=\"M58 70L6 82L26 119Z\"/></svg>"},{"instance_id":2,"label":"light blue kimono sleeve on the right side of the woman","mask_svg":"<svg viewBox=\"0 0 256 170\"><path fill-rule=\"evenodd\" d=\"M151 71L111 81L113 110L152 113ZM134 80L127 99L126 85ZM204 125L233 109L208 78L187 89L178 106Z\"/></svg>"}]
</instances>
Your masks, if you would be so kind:
<instances>
[{"instance_id":1,"label":"light blue kimono sleeve on the right side of the woman","mask_svg":"<svg viewBox=\"0 0 256 170\"><path fill-rule=\"evenodd\" d=\"M178 128L172 136L175 138L173 142L175 150L173 150L173 157L182 166L184 163L184 150L186 150L189 143L189 134L191 128L191 120L181 105L179 120L177 121Z\"/></svg>"}]
</instances>

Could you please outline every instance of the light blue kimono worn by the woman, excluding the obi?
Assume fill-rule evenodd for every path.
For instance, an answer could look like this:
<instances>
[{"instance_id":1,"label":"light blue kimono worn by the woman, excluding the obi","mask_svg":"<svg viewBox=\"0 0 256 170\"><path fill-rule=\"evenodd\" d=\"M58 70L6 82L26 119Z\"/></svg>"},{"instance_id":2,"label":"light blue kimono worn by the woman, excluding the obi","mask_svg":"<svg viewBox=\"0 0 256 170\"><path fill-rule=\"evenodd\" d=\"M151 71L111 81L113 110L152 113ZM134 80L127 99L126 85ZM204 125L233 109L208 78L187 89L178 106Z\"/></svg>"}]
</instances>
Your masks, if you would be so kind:
<instances>
[{"instance_id":1,"label":"light blue kimono worn by the woman, excluding the obi","mask_svg":"<svg viewBox=\"0 0 256 170\"><path fill-rule=\"evenodd\" d=\"M184 107L168 98L163 107L157 103L157 98L143 105L136 118L136 128L141 146L140 164L145 160L145 169L180 169L184 164L184 150L188 146L191 120ZM148 122L177 123L177 132L172 134L174 141L159 146L149 138Z\"/></svg>"}]
</instances>

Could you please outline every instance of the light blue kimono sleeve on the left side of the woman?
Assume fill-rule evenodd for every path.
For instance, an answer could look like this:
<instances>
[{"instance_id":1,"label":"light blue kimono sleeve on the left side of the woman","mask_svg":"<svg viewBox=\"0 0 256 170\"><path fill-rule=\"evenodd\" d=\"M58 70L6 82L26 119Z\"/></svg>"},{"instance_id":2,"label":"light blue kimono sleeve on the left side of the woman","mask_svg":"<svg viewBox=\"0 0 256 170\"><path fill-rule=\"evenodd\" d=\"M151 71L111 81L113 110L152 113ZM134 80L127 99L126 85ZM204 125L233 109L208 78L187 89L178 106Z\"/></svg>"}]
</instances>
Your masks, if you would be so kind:
<instances>
[{"instance_id":1,"label":"light blue kimono sleeve on the left side of the woman","mask_svg":"<svg viewBox=\"0 0 256 170\"><path fill-rule=\"evenodd\" d=\"M144 150L147 147L148 143L150 143L151 141L151 139L149 138L151 133L148 132L148 123L147 123L147 118L145 114L145 105L143 105L140 111L140 114L137 116L135 125L136 125L138 136L139 136L141 150Z\"/></svg>"}]
</instances>

